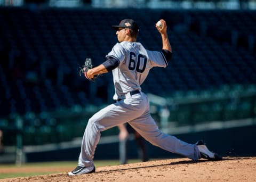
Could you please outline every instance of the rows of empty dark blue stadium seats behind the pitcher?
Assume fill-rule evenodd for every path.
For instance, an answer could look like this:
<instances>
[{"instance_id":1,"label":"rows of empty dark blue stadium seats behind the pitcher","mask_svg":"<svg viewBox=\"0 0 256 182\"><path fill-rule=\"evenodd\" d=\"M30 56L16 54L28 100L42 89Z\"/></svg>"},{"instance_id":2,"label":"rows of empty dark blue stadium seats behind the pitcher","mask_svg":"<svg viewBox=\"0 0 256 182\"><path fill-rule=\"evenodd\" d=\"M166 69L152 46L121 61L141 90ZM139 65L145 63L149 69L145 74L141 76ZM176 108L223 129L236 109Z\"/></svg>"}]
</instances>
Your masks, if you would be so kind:
<instances>
[{"instance_id":1,"label":"rows of empty dark blue stadium seats behind the pitcher","mask_svg":"<svg viewBox=\"0 0 256 182\"><path fill-rule=\"evenodd\" d=\"M40 113L76 104L85 106L90 100L90 84L78 76L79 66L85 57L92 57L95 64L105 60L105 55L117 42L111 25L126 17L138 21L141 29L138 40L150 50L162 49L154 21L164 18L169 27L173 59L166 69L151 70L142 85L146 93L179 97L177 90L180 90L191 97L194 95L189 90L201 93L222 85L255 84L255 53L239 41L238 46L231 42L234 30L239 38L251 35L256 39L254 11L133 9L131 13L129 9L46 8L36 12L26 7L0 7L0 85L4 88L0 91L3 96L1 115ZM2 57L5 57L3 62ZM15 65L21 75L14 78ZM28 83L26 74L29 71L38 73L38 82ZM95 85L107 88L109 78L100 77L103 86L100 82ZM248 87L248 92L250 89L255 88ZM205 91L201 94L208 97L212 93ZM105 95L101 96L100 100L106 100ZM243 113L252 107L247 106L246 103L241 105L246 111ZM207 107L219 113L221 106ZM223 107L228 111L225 118L234 118L234 106L227 104ZM186 122L190 111L185 111L185 115L180 114L176 119ZM243 118L246 114L240 115Z\"/></svg>"}]
</instances>

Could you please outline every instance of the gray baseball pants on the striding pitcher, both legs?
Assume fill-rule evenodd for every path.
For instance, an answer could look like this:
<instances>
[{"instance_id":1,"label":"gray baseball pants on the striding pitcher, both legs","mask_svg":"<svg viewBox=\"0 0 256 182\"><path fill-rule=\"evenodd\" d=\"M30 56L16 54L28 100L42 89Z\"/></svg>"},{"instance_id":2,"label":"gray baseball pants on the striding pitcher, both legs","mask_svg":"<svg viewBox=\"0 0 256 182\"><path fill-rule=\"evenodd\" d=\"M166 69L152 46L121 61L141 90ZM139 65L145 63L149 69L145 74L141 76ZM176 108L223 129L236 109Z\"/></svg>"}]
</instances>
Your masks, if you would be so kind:
<instances>
[{"instance_id":1,"label":"gray baseball pants on the striding pitcher, both legs","mask_svg":"<svg viewBox=\"0 0 256 182\"><path fill-rule=\"evenodd\" d=\"M200 158L196 144L188 144L158 129L149 112L148 98L146 94L140 92L134 95L127 93L121 101L106 106L89 119L82 140L78 165L92 167L100 132L125 122L129 122L143 138L155 146L192 160Z\"/></svg>"}]
</instances>

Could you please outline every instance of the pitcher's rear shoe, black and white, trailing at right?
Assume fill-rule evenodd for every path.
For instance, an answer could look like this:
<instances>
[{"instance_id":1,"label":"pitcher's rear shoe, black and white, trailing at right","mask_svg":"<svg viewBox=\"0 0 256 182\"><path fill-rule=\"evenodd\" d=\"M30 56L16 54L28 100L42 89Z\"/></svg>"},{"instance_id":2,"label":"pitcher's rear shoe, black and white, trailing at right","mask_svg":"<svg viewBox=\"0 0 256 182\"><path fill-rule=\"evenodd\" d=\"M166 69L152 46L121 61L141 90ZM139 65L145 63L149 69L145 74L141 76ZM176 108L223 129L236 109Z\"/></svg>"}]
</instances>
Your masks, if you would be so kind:
<instances>
[{"instance_id":1,"label":"pitcher's rear shoe, black and white, trailing at right","mask_svg":"<svg viewBox=\"0 0 256 182\"><path fill-rule=\"evenodd\" d=\"M196 143L198 150L200 152L201 158L208 159L211 161L218 161L222 160L222 156L218 155L217 153L213 153L209 151L209 149L206 147L205 143L203 141L198 141Z\"/></svg>"}]
</instances>

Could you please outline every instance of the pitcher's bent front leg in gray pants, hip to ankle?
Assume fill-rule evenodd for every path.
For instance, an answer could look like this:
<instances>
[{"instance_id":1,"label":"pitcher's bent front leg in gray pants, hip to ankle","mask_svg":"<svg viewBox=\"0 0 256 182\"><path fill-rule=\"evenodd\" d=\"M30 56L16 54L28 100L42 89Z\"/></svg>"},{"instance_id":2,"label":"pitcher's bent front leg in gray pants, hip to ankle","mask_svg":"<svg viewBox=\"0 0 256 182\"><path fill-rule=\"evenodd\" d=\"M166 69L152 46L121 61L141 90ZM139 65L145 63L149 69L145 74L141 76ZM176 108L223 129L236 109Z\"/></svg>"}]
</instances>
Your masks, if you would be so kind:
<instances>
[{"instance_id":1,"label":"pitcher's bent front leg in gray pants, hip to ankle","mask_svg":"<svg viewBox=\"0 0 256 182\"><path fill-rule=\"evenodd\" d=\"M110 104L95 113L89 119L84 132L78 165L85 167L93 166L93 156L95 148L99 143L100 132L138 118L144 111L141 106L142 104L141 100L137 101L129 98L115 104Z\"/></svg>"}]
</instances>

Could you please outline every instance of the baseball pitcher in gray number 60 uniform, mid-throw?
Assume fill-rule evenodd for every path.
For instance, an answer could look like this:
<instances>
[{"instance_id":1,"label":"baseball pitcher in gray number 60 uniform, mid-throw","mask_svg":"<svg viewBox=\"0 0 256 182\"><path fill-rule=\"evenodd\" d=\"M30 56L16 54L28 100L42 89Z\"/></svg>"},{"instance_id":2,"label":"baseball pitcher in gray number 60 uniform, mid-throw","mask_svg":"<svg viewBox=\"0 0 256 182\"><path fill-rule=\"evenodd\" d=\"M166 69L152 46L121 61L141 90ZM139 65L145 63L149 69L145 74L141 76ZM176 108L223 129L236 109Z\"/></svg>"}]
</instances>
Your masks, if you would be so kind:
<instances>
[{"instance_id":1,"label":"baseball pitcher in gray number 60 uniform, mid-throw","mask_svg":"<svg viewBox=\"0 0 256 182\"><path fill-rule=\"evenodd\" d=\"M87 60L82 72L87 79L95 80L99 75L112 71L114 100L117 102L106 106L89 119L82 140L78 166L68 172L68 175L94 172L93 155L100 139L100 132L126 122L148 142L166 151L186 156L191 160L221 159L221 156L209 151L202 141L189 144L163 133L150 115L149 101L141 90L141 84L151 68L165 68L171 61L172 48L166 22L160 20L155 24L162 37L162 51L149 51L137 42L139 27L132 19L124 19L118 26L112 27L116 29L119 43L114 45L106 55L106 61L98 67L93 68L91 60Z\"/></svg>"}]
</instances>

